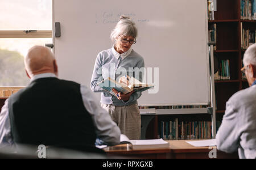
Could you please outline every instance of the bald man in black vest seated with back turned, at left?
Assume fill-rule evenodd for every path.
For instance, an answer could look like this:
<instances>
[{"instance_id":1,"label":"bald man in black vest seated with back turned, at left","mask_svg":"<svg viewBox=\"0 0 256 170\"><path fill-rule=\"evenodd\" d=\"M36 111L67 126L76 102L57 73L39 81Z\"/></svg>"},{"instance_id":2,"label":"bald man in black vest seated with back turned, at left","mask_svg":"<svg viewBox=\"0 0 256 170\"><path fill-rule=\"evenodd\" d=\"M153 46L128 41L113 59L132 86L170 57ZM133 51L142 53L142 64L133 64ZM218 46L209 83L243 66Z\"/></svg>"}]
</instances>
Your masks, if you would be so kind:
<instances>
[{"instance_id":1,"label":"bald man in black vest seated with back turned, at left","mask_svg":"<svg viewBox=\"0 0 256 170\"><path fill-rule=\"evenodd\" d=\"M120 130L93 92L57 78L50 49L34 46L24 58L30 84L6 100L0 113L0 147L29 144L75 148L120 141Z\"/></svg>"}]
</instances>

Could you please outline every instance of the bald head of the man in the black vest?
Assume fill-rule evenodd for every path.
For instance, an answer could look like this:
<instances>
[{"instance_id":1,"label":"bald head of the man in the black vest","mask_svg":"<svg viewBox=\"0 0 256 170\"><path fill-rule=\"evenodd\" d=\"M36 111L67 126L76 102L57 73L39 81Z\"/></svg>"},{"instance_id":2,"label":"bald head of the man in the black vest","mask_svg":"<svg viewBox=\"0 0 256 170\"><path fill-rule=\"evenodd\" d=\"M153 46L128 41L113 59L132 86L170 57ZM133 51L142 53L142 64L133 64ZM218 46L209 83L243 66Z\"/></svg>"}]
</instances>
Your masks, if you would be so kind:
<instances>
[{"instance_id":1,"label":"bald head of the man in the black vest","mask_svg":"<svg viewBox=\"0 0 256 170\"><path fill-rule=\"evenodd\" d=\"M24 59L28 75L32 76L43 73L54 73L57 75L55 56L51 50L44 46L34 46L28 50Z\"/></svg>"}]
</instances>

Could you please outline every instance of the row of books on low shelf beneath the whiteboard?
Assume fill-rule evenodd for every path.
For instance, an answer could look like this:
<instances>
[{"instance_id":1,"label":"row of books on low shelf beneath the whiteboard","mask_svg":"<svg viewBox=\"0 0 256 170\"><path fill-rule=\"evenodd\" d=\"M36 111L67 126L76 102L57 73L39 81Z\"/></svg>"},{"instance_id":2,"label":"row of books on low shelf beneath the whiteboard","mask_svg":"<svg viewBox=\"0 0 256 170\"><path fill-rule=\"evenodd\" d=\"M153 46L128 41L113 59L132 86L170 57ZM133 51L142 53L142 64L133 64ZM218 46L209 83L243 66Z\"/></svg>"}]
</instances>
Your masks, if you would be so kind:
<instances>
[{"instance_id":1,"label":"row of books on low shelf beneath the whiteboard","mask_svg":"<svg viewBox=\"0 0 256 170\"><path fill-rule=\"evenodd\" d=\"M161 121L159 138L164 140L211 139L212 122L210 121Z\"/></svg>"}]
</instances>

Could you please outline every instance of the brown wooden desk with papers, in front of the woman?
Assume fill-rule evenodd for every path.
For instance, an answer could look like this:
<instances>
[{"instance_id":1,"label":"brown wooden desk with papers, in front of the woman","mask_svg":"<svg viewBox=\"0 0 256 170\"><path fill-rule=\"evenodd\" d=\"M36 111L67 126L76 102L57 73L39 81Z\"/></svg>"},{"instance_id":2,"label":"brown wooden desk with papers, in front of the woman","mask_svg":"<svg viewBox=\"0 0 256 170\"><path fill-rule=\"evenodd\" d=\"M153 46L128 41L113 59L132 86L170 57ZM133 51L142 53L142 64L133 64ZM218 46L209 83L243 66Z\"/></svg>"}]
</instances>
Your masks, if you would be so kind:
<instances>
[{"instance_id":1,"label":"brown wooden desk with papers, in front of the woman","mask_svg":"<svg viewBox=\"0 0 256 170\"><path fill-rule=\"evenodd\" d=\"M195 141L195 140L194 140ZM128 156L129 158L143 159L209 159L209 147L194 147L185 141L168 141L169 148L154 150L133 150L129 144L112 146L104 150L108 155ZM216 147L213 147L216 149ZM225 152L217 151L217 159L232 158L238 159L238 154L226 154Z\"/></svg>"}]
</instances>

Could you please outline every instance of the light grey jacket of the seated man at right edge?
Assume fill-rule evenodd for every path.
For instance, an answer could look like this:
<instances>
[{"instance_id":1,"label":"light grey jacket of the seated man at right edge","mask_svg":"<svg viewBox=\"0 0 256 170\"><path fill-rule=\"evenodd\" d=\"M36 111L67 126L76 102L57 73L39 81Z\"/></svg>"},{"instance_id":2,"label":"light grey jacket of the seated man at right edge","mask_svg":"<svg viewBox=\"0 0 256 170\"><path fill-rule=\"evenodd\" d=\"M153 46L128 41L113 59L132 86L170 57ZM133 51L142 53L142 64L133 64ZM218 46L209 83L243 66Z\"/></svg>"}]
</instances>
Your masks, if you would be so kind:
<instances>
[{"instance_id":1,"label":"light grey jacket of the seated man at right edge","mask_svg":"<svg viewBox=\"0 0 256 170\"><path fill-rule=\"evenodd\" d=\"M238 150L240 158L256 158L256 85L234 94L216 135L217 148Z\"/></svg>"}]
</instances>

